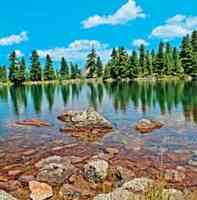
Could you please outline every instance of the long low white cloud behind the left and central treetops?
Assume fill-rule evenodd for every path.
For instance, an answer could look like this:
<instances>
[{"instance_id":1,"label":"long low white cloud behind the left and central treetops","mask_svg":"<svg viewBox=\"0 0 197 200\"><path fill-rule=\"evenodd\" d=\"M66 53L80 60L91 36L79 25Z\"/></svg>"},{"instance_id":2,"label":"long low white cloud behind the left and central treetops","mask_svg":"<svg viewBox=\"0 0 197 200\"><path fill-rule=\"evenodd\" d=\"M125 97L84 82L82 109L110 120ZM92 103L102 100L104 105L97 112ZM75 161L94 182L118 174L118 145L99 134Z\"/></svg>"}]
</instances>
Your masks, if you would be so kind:
<instances>
[{"instance_id":1,"label":"long low white cloud behind the left and central treetops","mask_svg":"<svg viewBox=\"0 0 197 200\"><path fill-rule=\"evenodd\" d=\"M41 58L49 54L55 61L59 61L62 57L65 57L68 61L83 63L92 47L96 49L97 54L104 61L111 54L109 45L97 40L76 40L70 43L68 47L56 47L53 49L38 50L37 52Z\"/></svg>"}]
</instances>

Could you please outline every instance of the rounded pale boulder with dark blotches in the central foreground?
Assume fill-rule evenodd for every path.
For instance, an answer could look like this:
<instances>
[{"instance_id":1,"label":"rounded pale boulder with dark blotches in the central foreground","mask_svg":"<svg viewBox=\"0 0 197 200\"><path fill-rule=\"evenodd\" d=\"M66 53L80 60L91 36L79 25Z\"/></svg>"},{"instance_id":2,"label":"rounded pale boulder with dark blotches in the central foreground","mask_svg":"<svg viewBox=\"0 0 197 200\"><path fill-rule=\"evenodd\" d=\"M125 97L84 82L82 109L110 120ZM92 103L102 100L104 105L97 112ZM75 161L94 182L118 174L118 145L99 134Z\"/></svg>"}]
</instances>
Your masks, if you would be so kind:
<instances>
[{"instance_id":1,"label":"rounded pale boulder with dark blotches in the central foreground","mask_svg":"<svg viewBox=\"0 0 197 200\"><path fill-rule=\"evenodd\" d=\"M84 176L92 182L98 183L106 179L109 164L105 160L95 159L84 166Z\"/></svg>"}]
</instances>

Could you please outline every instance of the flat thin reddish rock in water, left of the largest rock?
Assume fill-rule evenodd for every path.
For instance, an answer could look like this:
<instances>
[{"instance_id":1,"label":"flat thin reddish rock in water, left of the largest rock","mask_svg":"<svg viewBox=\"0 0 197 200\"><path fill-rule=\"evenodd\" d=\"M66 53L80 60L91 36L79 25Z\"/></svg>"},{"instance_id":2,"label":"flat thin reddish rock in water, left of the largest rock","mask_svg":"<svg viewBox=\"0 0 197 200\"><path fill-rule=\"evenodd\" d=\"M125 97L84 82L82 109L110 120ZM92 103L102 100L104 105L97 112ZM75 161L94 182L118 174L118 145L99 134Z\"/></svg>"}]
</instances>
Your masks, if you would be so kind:
<instances>
[{"instance_id":1,"label":"flat thin reddish rock in water, left of the largest rock","mask_svg":"<svg viewBox=\"0 0 197 200\"><path fill-rule=\"evenodd\" d=\"M48 122L40 119L28 119L28 120L16 121L16 125L35 126L35 127L50 126Z\"/></svg>"}]
</instances>

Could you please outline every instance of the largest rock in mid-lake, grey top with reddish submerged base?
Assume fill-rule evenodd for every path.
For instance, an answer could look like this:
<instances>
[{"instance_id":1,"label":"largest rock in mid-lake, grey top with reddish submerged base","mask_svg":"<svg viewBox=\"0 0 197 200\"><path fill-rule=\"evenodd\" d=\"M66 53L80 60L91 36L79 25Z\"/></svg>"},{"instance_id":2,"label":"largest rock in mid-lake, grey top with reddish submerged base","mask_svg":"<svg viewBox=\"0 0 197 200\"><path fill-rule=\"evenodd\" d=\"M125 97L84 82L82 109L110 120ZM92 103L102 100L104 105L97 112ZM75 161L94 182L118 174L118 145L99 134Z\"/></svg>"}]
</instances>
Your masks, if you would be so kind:
<instances>
[{"instance_id":1,"label":"largest rock in mid-lake, grey top with reddish submerged base","mask_svg":"<svg viewBox=\"0 0 197 200\"><path fill-rule=\"evenodd\" d=\"M111 123L93 108L83 112L68 111L58 119L66 123L60 131L90 142L112 131Z\"/></svg>"}]
</instances>

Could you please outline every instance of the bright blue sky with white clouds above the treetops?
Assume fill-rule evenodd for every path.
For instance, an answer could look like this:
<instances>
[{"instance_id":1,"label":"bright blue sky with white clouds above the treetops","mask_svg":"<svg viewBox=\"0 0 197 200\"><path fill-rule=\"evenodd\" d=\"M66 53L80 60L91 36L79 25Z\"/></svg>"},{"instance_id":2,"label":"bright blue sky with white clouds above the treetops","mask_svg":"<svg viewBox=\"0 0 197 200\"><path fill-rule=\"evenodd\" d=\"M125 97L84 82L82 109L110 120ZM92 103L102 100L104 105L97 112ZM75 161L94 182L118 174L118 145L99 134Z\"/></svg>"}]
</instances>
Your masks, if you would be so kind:
<instances>
[{"instance_id":1,"label":"bright blue sky with white clouds above the treetops","mask_svg":"<svg viewBox=\"0 0 197 200\"><path fill-rule=\"evenodd\" d=\"M2 1L0 62L7 64L12 50L83 63L92 45L103 60L112 47L154 48L160 40L178 45L197 29L196 9L196 0Z\"/></svg>"}]
</instances>

